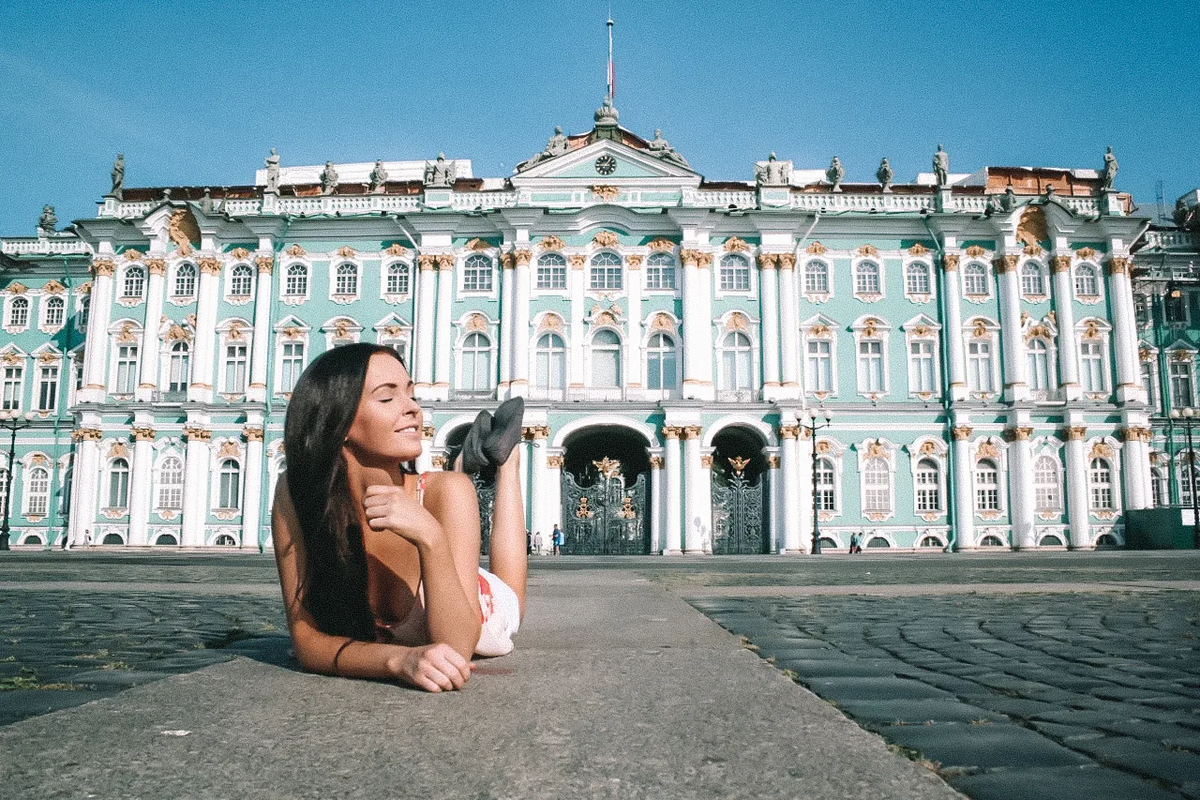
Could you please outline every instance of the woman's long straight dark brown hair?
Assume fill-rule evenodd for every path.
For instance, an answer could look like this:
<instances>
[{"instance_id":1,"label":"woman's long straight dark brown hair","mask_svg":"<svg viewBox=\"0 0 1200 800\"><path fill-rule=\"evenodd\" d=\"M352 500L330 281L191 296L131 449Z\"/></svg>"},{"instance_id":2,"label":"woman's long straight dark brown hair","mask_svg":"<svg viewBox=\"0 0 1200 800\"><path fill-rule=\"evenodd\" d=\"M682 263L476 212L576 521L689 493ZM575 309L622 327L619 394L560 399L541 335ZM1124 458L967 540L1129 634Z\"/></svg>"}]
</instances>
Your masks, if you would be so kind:
<instances>
[{"instance_id":1,"label":"woman's long straight dark brown hair","mask_svg":"<svg viewBox=\"0 0 1200 800\"><path fill-rule=\"evenodd\" d=\"M304 606L325 633L374 638L367 559L342 444L359 409L367 363L391 348L346 344L323 353L292 391L283 425L288 492L304 535Z\"/></svg>"}]
</instances>

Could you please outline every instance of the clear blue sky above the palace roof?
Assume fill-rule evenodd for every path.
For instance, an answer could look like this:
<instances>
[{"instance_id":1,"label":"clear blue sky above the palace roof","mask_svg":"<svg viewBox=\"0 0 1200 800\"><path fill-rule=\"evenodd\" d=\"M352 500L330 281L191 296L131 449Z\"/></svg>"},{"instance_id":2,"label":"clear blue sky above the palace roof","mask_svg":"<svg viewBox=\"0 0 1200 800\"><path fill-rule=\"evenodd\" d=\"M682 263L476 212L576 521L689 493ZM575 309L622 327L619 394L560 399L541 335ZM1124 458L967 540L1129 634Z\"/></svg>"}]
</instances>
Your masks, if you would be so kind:
<instances>
[{"instance_id":1,"label":"clear blue sky above the palace roof","mask_svg":"<svg viewBox=\"0 0 1200 800\"><path fill-rule=\"evenodd\" d=\"M1153 213L1200 186L1200 5L613 0L622 125L710 180L776 151L882 156L898 179L1099 167ZM0 4L0 235L42 204L92 216L116 152L128 186L248 184L283 164L470 158L506 175L554 125L589 130L607 0Z\"/></svg>"}]
</instances>

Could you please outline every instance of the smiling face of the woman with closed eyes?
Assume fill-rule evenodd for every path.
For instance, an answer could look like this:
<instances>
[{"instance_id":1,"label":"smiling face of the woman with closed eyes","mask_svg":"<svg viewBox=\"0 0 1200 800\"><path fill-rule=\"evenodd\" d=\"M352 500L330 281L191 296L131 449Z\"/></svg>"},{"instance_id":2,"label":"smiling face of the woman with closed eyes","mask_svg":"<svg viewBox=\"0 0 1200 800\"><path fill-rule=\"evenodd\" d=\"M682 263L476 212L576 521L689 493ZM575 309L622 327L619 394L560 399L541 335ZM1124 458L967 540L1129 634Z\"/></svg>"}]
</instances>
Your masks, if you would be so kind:
<instances>
[{"instance_id":1,"label":"smiling face of the woman with closed eyes","mask_svg":"<svg viewBox=\"0 0 1200 800\"><path fill-rule=\"evenodd\" d=\"M421 455L421 407L398 360L376 353L367 362L359 410L346 447L364 467L395 468Z\"/></svg>"}]
</instances>

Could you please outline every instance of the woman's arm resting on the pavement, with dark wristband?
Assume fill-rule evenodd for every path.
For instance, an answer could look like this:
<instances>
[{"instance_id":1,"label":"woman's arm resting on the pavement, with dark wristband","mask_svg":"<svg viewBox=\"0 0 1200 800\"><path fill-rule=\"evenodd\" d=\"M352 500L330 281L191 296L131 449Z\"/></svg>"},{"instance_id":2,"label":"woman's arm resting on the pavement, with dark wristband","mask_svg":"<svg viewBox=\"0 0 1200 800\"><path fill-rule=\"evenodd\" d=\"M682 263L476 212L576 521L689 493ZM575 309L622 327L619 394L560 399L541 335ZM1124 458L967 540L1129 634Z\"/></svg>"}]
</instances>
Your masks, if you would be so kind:
<instances>
[{"instance_id":1,"label":"woman's arm resting on the pavement, with dark wristband","mask_svg":"<svg viewBox=\"0 0 1200 800\"><path fill-rule=\"evenodd\" d=\"M398 678L431 692L461 688L467 682L472 670L469 661L445 644L403 648L330 636L317 627L316 619L301 602L304 539L286 476L280 477L275 492L271 537L292 646L306 670L347 678Z\"/></svg>"}]
</instances>

